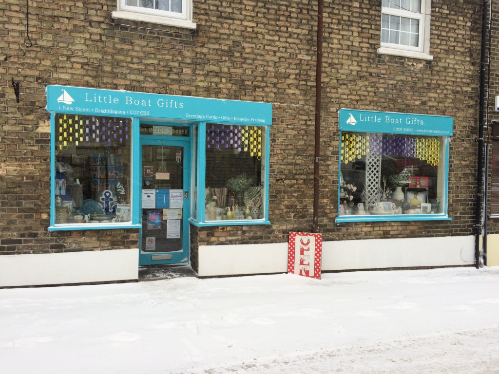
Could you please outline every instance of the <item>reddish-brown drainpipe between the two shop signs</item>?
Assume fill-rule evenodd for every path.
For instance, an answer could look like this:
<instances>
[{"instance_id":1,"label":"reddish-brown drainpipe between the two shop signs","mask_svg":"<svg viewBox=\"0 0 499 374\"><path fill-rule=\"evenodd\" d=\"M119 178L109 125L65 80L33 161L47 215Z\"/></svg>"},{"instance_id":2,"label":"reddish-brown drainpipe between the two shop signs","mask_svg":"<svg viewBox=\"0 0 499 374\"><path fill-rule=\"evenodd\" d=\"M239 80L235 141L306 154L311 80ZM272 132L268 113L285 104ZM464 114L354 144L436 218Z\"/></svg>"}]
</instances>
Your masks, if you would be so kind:
<instances>
[{"instance_id":1,"label":"reddish-brown drainpipe between the two shop signs","mask_svg":"<svg viewBox=\"0 0 499 374\"><path fill-rule=\"evenodd\" d=\"M324 0L317 4L317 61L315 66L315 145L313 179L313 226L312 232L319 232L319 158L320 158L320 112L322 96L322 14Z\"/></svg>"}]
</instances>

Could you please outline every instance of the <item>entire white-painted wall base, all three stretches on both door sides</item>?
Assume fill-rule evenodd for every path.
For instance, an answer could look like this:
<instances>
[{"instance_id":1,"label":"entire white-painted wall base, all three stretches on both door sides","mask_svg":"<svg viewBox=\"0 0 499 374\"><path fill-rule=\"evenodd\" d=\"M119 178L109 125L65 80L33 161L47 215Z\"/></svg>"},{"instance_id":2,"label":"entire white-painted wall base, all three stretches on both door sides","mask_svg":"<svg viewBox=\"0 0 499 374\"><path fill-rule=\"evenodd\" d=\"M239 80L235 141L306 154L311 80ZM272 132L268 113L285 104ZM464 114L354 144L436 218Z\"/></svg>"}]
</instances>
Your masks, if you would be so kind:
<instances>
[{"instance_id":1,"label":"entire white-painted wall base, all three stretches on both door sides","mask_svg":"<svg viewBox=\"0 0 499 374\"><path fill-rule=\"evenodd\" d=\"M288 243L201 246L198 275L285 273L287 250ZM137 248L4 255L0 256L0 287L137 280L138 260ZM474 236L322 243L322 271L474 263Z\"/></svg>"}]
</instances>

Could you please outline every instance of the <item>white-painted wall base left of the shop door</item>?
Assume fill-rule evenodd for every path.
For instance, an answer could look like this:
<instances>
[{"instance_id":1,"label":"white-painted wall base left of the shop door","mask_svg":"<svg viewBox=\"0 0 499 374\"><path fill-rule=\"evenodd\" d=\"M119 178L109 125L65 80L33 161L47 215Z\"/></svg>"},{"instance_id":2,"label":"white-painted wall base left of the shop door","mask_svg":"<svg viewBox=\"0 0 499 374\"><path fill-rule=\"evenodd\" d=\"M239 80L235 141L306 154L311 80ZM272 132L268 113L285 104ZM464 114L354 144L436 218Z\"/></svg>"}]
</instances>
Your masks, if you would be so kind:
<instances>
[{"instance_id":1,"label":"white-painted wall base left of the shop door","mask_svg":"<svg viewBox=\"0 0 499 374\"><path fill-rule=\"evenodd\" d=\"M136 280L139 250L0 256L0 287Z\"/></svg>"}]
</instances>

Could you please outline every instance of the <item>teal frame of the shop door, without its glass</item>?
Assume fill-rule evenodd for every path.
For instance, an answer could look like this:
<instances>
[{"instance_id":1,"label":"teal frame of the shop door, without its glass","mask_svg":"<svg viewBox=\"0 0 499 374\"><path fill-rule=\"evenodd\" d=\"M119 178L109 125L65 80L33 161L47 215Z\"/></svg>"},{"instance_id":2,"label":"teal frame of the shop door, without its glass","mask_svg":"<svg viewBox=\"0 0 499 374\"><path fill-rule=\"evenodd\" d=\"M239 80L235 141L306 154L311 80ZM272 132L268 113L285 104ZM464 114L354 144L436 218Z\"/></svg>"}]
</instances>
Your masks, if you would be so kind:
<instances>
[{"instance_id":1,"label":"teal frame of the shop door, without its glass","mask_svg":"<svg viewBox=\"0 0 499 374\"><path fill-rule=\"evenodd\" d=\"M165 146L183 148L183 194L182 199L182 250L174 252L146 252L142 248L142 234L144 228L139 230L139 265L162 265L162 264L187 264L189 263L189 215L190 215L190 187L191 187L191 144L189 137L172 137L172 136L157 136L157 135L141 135L140 136L140 175L137 178L140 181L140 186L143 186L142 174L142 146ZM172 160L174 161L174 160ZM153 186L154 187L154 186ZM187 197L186 197L187 193ZM158 209L159 210L159 209ZM139 214L142 219L142 191L140 193Z\"/></svg>"}]
</instances>

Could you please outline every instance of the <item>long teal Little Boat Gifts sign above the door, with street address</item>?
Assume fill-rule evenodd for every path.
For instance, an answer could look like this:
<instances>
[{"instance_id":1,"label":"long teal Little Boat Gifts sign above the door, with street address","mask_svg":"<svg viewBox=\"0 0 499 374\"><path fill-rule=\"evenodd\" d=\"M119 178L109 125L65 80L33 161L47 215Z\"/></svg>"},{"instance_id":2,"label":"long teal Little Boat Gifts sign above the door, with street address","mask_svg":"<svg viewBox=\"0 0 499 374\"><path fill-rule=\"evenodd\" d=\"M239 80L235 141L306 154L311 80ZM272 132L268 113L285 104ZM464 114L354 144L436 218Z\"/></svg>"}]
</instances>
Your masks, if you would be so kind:
<instances>
[{"instance_id":1,"label":"long teal Little Boat Gifts sign above the door, with street address","mask_svg":"<svg viewBox=\"0 0 499 374\"><path fill-rule=\"evenodd\" d=\"M255 126L272 123L272 104L269 103L71 86L48 85L46 109L49 112L90 116L165 118ZM170 131L156 129L163 130Z\"/></svg>"}]
</instances>

